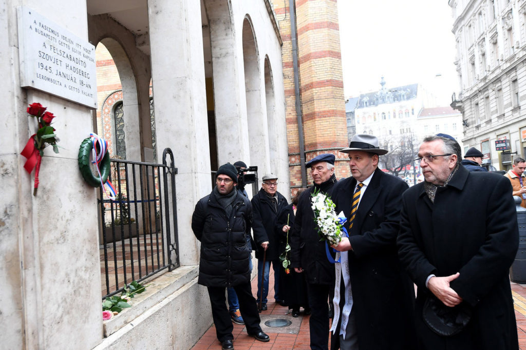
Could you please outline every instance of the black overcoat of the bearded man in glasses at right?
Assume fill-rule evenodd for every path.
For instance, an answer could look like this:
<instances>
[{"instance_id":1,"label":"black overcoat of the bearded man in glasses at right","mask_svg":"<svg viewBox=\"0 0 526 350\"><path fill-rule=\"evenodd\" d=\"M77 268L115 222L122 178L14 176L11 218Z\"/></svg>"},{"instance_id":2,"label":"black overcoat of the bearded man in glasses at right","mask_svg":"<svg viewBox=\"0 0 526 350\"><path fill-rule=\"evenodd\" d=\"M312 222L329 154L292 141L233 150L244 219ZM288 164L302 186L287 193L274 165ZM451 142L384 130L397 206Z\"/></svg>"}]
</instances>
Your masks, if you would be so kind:
<instances>
[{"instance_id":1,"label":"black overcoat of the bearded man in glasses at right","mask_svg":"<svg viewBox=\"0 0 526 350\"><path fill-rule=\"evenodd\" d=\"M417 284L415 320L419 343L429 349L517 349L509 267L519 244L510 181L498 174L469 172L460 166L434 203L424 183L402 197L400 261ZM450 287L473 307L467 328L442 337L422 321L431 294L430 274L460 272Z\"/></svg>"}]
</instances>

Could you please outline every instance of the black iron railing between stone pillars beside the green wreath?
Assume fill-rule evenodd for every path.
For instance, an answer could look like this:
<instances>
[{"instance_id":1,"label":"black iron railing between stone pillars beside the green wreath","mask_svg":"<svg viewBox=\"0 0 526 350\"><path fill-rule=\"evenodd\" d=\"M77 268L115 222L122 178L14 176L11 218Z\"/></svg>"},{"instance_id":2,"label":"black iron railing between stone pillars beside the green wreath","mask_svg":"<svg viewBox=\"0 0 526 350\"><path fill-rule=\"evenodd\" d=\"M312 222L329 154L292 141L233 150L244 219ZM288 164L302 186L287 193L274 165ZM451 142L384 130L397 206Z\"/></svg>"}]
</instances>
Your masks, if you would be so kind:
<instances>
[{"instance_id":1,"label":"black iron railing between stone pillars beside the green wreath","mask_svg":"<svg viewBox=\"0 0 526 350\"><path fill-rule=\"evenodd\" d=\"M170 165L167 165L169 156ZM100 264L103 299L134 280L179 266L174 156L163 164L112 159L110 200L100 189Z\"/></svg>"}]
</instances>

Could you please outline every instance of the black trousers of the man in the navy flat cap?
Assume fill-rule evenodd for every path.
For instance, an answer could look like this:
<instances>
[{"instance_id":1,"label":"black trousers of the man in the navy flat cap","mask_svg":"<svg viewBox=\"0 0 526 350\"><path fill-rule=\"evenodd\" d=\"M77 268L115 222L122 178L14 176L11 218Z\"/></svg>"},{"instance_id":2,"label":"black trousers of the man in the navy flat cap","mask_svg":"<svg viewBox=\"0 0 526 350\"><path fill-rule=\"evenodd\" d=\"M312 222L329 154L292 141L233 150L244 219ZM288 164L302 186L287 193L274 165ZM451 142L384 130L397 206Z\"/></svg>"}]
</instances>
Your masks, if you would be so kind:
<instances>
[{"instance_id":1,"label":"black trousers of the man in the navy flat cap","mask_svg":"<svg viewBox=\"0 0 526 350\"><path fill-rule=\"evenodd\" d=\"M311 310L309 320L310 348L329 348L329 293L334 286L307 283L307 294Z\"/></svg>"}]
</instances>

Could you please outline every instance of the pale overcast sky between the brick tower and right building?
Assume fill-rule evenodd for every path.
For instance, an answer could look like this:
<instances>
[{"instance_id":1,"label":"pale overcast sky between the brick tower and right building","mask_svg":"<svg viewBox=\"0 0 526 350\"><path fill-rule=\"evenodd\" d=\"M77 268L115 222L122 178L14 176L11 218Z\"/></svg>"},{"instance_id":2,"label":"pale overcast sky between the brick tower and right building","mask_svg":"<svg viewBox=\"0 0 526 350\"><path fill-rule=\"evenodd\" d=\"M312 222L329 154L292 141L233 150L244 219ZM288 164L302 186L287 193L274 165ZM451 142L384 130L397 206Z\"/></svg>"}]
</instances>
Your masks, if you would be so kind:
<instances>
[{"instance_id":1,"label":"pale overcast sky between the brick tower and right building","mask_svg":"<svg viewBox=\"0 0 526 350\"><path fill-rule=\"evenodd\" d=\"M338 0L345 97L422 83L448 106L459 91L447 0ZM437 75L440 75L437 77Z\"/></svg>"}]
</instances>

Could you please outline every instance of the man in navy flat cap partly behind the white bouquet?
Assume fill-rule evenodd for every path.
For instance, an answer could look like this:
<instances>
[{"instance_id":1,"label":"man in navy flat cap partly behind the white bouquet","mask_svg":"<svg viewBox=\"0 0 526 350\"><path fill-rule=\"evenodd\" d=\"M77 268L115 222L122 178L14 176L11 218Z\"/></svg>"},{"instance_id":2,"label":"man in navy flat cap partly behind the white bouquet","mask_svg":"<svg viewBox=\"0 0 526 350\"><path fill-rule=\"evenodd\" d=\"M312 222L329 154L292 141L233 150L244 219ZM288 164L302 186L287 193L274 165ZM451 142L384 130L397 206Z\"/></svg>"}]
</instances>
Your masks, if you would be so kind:
<instances>
[{"instance_id":1,"label":"man in navy flat cap partly behind the white bouquet","mask_svg":"<svg viewBox=\"0 0 526 350\"><path fill-rule=\"evenodd\" d=\"M327 349L329 345L329 305L327 300L334 286L334 265L320 241L318 225L311 209L311 194L318 190L332 195L336 183L334 161L329 153L312 158L305 164L310 169L314 186L301 194L294 227L290 233L290 263L297 273L305 273L311 316L309 320L310 348Z\"/></svg>"}]
</instances>

